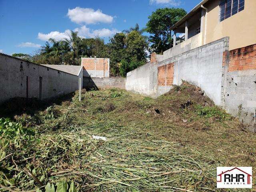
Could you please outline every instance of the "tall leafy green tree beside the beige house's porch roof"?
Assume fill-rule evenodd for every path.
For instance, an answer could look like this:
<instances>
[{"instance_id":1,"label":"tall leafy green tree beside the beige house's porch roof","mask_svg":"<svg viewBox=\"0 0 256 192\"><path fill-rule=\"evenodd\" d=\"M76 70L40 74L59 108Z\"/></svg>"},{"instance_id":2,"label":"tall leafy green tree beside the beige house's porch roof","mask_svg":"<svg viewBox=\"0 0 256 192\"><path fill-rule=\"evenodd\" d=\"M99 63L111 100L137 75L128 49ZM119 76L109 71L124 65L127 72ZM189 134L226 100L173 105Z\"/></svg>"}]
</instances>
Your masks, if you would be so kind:
<instances>
[{"instance_id":1,"label":"tall leafy green tree beside the beige house's porch roof","mask_svg":"<svg viewBox=\"0 0 256 192\"><path fill-rule=\"evenodd\" d=\"M163 53L166 48L172 47L170 28L185 15L186 11L181 8L162 8L152 12L145 29L153 34L150 36L150 42L156 45L152 46L152 51Z\"/></svg>"}]
</instances>

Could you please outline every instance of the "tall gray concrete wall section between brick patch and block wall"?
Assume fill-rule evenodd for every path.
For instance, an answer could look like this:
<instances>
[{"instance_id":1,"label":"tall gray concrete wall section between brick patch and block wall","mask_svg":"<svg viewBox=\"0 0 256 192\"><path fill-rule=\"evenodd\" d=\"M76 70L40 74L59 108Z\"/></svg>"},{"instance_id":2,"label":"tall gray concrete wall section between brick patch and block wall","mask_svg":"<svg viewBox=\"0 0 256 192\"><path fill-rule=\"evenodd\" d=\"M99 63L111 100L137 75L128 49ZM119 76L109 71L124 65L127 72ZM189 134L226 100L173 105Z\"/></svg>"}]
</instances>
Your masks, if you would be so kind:
<instances>
[{"instance_id":1,"label":"tall gray concrete wall section between brick patch and block wall","mask_svg":"<svg viewBox=\"0 0 256 192\"><path fill-rule=\"evenodd\" d=\"M158 66L174 62L173 84L180 85L182 80L185 80L199 86L216 105L221 106L222 60L227 42L228 38L222 38L158 62ZM165 89L165 92L167 91L168 89ZM158 94L162 93L164 92Z\"/></svg>"}]
</instances>

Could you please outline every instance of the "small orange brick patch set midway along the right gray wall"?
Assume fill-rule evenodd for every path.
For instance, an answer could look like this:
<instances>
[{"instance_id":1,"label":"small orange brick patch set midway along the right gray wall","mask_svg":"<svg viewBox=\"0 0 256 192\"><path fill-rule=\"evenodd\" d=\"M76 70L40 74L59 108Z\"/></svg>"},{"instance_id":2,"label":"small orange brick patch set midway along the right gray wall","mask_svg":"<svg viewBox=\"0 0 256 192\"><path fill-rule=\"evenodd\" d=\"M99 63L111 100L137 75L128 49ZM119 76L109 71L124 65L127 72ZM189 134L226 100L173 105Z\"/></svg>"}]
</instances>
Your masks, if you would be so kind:
<instances>
[{"instance_id":1,"label":"small orange brick patch set midway along the right gray wall","mask_svg":"<svg viewBox=\"0 0 256 192\"><path fill-rule=\"evenodd\" d=\"M174 63L158 67L158 86L171 86L173 84Z\"/></svg>"}]
</instances>

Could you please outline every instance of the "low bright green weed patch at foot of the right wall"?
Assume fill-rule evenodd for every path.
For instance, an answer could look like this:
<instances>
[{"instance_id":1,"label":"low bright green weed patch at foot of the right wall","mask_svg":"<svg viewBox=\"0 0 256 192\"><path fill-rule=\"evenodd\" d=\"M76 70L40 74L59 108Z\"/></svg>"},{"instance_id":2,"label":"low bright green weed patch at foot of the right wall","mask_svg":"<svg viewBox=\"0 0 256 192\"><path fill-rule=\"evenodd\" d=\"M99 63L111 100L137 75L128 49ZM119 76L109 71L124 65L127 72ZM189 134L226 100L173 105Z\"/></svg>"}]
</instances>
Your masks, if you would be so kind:
<instances>
[{"instance_id":1,"label":"low bright green weed patch at foot of the right wall","mask_svg":"<svg viewBox=\"0 0 256 192\"><path fill-rule=\"evenodd\" d=\"M224 112L224 110L218 108L217 106L196 106L197 114L199 116L204 116L206 118L214 117L218 120L224 120L226 118L230 119L230 115Z\"/></svg>"}]
</instances>

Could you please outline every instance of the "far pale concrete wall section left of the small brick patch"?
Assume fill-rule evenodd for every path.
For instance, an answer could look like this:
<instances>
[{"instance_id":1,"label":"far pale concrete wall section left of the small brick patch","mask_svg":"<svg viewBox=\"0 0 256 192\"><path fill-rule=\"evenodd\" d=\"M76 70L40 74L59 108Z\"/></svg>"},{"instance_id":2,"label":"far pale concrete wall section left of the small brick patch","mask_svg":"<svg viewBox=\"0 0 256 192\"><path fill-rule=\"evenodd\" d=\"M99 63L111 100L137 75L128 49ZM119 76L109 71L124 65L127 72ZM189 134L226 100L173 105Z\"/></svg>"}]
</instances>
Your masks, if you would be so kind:
<instances>
[{"instance_id":1,"label":"far pale concrete wall section left of the small brick patch","mask_svg":"<svg viewBox=\"0 0 256 192\"><path fill-rule=\"evenodd\" d=\"M157 63L147 63L126 75L126 90L146 96L156 97L157 87Z\"/></svg>"}]
</instances>

